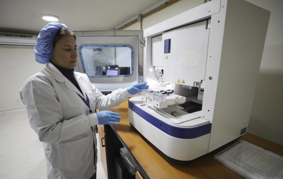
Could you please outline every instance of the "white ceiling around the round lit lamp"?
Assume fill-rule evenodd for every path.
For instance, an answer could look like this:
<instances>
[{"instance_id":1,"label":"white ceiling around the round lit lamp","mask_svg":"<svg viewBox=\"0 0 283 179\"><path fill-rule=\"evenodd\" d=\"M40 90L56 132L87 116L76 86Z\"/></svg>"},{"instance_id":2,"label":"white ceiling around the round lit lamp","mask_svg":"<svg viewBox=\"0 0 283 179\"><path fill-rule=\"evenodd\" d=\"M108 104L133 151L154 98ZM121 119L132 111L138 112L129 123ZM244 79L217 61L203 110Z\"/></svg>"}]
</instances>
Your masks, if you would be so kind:
<instances>
[{"instance_id":1,"label":"white ceiling around the round lit lamp","mask_svg":"<svg viewBox=\"0 0 283 179\"><path fill-rule=\"evenodd\" d=\"M71 30L111 30L164 0L0 0L0 30L39 33L58 16Z\"/></svg>"}]
</instances>

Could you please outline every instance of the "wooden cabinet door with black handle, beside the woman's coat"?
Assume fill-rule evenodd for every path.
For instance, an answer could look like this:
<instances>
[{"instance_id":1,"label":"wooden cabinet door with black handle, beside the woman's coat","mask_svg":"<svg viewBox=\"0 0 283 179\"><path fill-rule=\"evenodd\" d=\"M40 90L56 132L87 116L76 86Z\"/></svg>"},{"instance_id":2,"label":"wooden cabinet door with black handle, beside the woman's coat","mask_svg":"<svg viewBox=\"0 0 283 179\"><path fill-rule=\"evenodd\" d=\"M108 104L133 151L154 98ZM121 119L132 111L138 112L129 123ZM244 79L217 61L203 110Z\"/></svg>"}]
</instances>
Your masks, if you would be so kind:
<instances>
[{"instance_id":1,"label":"wooden cabinet door with black handle, beside the woman's coat","mask_svg":"<svg viewBox=\"0 0 283 179\"><path fill-rule=\"evenodd\" d=\"M105 133L104 133L103 128L104 128L103 125L98 125L98 136L99 136L99 143L100 143L99 148L100 148L101 163L102 163L102 166L104 168L106 177L108 178L108 176L107 176L105 140L104 140Z\"/></svg>"}]
</instances>

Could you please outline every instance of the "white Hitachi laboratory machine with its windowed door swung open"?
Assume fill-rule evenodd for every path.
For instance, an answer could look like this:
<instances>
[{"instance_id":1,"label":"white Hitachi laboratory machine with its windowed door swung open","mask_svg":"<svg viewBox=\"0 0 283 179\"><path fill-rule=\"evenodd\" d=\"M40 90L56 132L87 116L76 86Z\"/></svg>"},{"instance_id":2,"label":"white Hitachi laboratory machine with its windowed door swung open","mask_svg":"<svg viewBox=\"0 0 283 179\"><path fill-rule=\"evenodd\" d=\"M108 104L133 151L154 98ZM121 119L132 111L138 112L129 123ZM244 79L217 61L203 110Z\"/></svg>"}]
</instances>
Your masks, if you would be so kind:
<instances>
[{"instance_id":1,"label":"white Hitachi laboratory machine with its windowed door swung open","mask_svg":"<svg viewBox=\"0 0 283 179\"><path fill-rule=\"evenodd\" d=\"M184 163L246 133L269 16L244 0L212 0L143 31L76 31L76 70L91 71L101 44L115 56L129 48L129 63L117 67L130 73L103 76L99 67L95 75L94 66L87 74L102 91L147 81L129 99L129 122L166 159ZM97 66L105 65L118 64Z\"/></svg>"}]
</instances>

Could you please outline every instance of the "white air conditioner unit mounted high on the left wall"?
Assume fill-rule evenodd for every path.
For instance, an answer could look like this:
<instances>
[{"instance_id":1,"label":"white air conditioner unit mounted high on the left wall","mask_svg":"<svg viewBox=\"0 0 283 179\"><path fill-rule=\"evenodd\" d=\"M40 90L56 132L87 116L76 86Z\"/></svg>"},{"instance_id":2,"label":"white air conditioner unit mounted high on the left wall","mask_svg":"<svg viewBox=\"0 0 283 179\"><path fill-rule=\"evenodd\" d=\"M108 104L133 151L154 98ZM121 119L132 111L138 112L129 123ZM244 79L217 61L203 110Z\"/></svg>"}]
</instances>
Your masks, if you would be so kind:
<instances>
[{"instance_id":1,"label":"white air conditioner unit mounted high on the left wall","mask_svg":"<svg viewBox=\"0 0 283 179\"><path fill-rule=\"evenodd\" d=\"M0 32L0 44L34 46L37 35L19 34L13 32Z\"/></svg>"}]
</instances>

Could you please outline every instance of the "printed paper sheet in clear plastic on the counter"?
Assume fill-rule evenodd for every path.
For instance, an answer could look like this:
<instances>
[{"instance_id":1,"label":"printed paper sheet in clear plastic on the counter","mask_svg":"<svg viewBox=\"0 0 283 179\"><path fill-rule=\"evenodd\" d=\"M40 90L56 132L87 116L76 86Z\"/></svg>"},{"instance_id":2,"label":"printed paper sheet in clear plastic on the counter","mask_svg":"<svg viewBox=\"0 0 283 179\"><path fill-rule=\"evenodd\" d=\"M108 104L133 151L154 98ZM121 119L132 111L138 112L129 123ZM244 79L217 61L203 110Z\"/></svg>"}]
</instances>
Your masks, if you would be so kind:
<instances>
[{"instance_id":1,"label":"printed paper sheet in clear plastic on the counter","mask_svg":"<svg viewBox=\"0 0 283 179\"><path fill-rule=\"evenodd\" d=\"M283 157L240 140L214 158L250 179L283 179Z\"/></svg>"}]
</instances>

